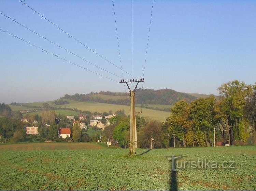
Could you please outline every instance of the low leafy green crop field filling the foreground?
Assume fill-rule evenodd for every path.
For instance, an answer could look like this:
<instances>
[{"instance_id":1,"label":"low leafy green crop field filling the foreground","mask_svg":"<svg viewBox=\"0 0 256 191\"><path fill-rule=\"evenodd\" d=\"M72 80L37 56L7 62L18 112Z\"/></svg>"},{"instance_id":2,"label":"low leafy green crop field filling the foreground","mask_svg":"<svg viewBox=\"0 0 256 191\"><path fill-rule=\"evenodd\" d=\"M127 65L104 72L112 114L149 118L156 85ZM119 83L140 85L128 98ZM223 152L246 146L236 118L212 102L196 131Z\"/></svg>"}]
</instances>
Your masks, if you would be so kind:
<instances>
[{"instance_id":1,"label":"low leafy green crop field filling the foreground","mask_svg":"<svg viewBox=\"0 0 256 191\"><path fill-rule=\"evenodd\" d=\"M256 146L137 149L136 152L137 156L127 157L128 149L107 147L1 151L0 190L256 189ZM210 165L215 161L217 167L201 168L204 166L201 163L197 168L176 165L174 172L172 162L168 161L172 155L185 155L176 162L205 159Z\"/></svg>"}]
</instances>

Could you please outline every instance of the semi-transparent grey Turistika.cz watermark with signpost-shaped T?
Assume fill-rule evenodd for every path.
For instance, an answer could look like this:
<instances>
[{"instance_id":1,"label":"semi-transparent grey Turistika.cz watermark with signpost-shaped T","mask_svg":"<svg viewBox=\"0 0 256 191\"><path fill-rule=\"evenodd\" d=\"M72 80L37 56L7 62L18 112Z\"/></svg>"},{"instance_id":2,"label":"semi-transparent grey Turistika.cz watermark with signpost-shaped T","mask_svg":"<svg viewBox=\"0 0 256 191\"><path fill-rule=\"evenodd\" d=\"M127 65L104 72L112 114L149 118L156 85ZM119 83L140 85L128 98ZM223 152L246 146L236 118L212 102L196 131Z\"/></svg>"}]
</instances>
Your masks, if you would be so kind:
<instances>
[{"instance_id":1,"label":"semi-transparent grey Turistika.cz watermark with signpost-shaped T","mask_svg":"<svg viewBox=\"0 0 256 191\"><path fill-rule=\"evenodd\" d=\"M223 161L219 163L217 161L208 161L207 159L198 159L197 161L190 161L190 159L187 161L178 161L179 158L183 157L185 157L185 155L176 157L172 155L172 158L168 158L169 161L172 161L172 171L177 171L177 169L234 169L235 165L234 161Z\"/></svg>"}]
</instances>

